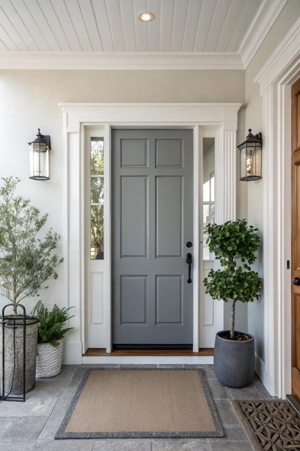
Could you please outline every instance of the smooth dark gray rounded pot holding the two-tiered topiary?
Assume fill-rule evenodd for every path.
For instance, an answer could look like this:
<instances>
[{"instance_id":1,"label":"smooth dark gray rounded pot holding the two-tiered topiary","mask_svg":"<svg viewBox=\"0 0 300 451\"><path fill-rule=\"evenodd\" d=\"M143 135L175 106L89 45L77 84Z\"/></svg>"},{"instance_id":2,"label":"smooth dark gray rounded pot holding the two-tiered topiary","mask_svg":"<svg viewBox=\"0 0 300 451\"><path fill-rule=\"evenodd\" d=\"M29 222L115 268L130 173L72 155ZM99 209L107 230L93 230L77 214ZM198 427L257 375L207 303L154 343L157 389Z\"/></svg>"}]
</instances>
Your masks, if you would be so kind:
<instances>
[{"instance_id":1,"label":"smooth dark gray rounded pot holding the two-tiered topiary","mask_svg":"<svg viewBox=\"0 0 300 451\"><path fill-rule=\"evenodd\" d=\"M234 341L221 338L224 332L228 331L220 331L215 336L215 375L227 387L246 387L254 377L254 336L247 333L250 340Z\"/></svg>"}]
</instances>

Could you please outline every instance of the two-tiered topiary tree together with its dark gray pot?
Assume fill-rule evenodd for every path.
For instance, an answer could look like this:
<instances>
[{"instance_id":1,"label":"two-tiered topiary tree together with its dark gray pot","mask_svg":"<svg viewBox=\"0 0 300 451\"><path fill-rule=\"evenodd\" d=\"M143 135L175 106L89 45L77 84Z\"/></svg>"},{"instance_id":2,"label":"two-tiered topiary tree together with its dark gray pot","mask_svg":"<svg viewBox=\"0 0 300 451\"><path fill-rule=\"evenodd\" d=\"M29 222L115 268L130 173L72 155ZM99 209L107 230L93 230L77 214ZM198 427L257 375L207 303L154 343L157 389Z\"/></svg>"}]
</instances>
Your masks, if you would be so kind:
<instances>
[{"instance_id":1,"label":"two-tiered topiary tree together with its dark gray pot","mask_svg":"<svg viewBox=\"0 0 300 451\"><path fill-rule=\"evenodd\" d=\"M208 224L204 233L206 243L223 270L210 270L204 279L206 294L212 299L232 301L230 331L220 331L215 336L214 370L219 381L228 387L245 387L250 384L255 370L254 337L234 330L237 301L253 302L258 299L262 279L249 265L255 262L255 251L260 237L245 219L224 224ZM237 266L237 260L243 263Z\"/></svg>"}]
</instances>

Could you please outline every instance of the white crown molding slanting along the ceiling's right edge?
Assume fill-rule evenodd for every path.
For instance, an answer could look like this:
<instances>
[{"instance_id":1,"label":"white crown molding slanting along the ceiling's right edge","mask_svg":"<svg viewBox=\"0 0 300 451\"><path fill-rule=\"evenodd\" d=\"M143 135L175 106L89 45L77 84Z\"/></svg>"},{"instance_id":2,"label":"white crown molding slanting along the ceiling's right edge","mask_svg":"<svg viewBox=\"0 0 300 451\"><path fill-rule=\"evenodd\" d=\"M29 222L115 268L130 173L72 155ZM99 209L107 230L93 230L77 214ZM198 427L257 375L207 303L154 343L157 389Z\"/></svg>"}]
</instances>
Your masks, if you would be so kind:
<instances>
[{"instance_id":1,"label":"white crown molding slanting along the ceiling's right edge","mask_svg":"<svg viewBox=\"0 0 300 451\"><path fill-rule=\"evenodd\" d=\"M245 69L251 63L286 3L287 0L264 0L260 5L237 51L241 55Z\"/></svg>"}]
</instances>

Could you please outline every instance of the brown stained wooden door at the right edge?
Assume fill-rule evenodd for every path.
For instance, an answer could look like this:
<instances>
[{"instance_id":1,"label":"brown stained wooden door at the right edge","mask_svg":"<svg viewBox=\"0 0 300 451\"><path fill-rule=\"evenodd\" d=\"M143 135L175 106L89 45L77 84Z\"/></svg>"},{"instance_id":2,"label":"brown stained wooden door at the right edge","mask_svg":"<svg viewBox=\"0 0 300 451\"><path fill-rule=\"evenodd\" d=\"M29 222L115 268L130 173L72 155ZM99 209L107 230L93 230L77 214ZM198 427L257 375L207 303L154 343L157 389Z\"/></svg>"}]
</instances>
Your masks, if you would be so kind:
<instances>
[{"instance_id":1,"label":"brown stained wooden door at the right edge","mask_svg":"<svg viewBox=\"0 0 300 451\"><path fill-rule=\"evenodd\" d=\"M300 403L300 78L291 87L292 395Z\"/></svg>"}]
</instances>

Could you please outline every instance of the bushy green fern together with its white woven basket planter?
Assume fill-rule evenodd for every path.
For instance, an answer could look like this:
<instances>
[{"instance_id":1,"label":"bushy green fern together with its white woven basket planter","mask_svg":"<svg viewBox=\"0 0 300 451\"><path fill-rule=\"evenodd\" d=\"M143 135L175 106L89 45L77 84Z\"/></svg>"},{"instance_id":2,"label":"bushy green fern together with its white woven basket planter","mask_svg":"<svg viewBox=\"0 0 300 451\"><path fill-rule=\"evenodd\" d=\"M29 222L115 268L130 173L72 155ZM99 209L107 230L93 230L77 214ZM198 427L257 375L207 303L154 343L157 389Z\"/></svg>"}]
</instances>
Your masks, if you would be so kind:
<instances>
[{"instance_id":1,"label":"bushy green fern together with its white woven basket planter","mask_svg":"<svg viewBox=\"0 0 300 451\"><path fill-rule=\"evenodd\" d=\"M32 310L33 315L39 318L36 353L36 377L53 377L60 373L63 357L63 336L74 327L64 327L73 307L59 308L54 304L49 312L39 301Z\"/></svg>"}]
</instances>

